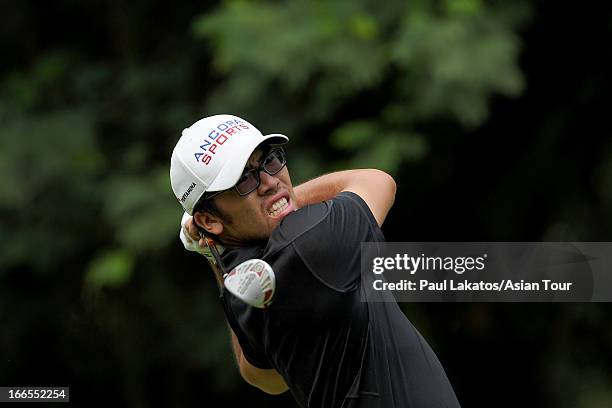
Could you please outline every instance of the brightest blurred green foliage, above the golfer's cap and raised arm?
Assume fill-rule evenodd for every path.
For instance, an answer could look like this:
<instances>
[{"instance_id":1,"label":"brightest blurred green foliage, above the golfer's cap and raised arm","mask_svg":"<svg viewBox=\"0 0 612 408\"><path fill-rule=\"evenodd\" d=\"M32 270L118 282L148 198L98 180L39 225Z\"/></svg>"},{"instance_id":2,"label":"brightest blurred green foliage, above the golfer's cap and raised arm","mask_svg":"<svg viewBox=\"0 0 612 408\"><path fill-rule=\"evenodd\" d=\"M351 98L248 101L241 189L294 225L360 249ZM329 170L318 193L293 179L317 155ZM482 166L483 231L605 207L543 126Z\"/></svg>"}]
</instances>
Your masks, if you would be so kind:
<instances>
[{"instance_id":1,"label":"brightest blurred green foliage, above the golfer's cap and raised arm","mask_svg":"<svg viewBox=\"0 0 612 408\"><path fill-rule=\"evenodd\" d=\"M526 3L513 3L510 13L478 0L439 6L224 3L194 23L196 36L212 42L212 62L224 79L208 108L237 109L307 139L302 143L310 140L300 129L337 128L330 147L355 155L350 165L382 158L395 173L403 161L426 154L421 124L444 119L476 127L486 120L492 95L516 96L524 88L513 30L526 20ZM360 109L371 93L379 105L366 117L336 122L344 106ZM379 145L372 152L374 140Z\"/></svg>"}]
</instances>

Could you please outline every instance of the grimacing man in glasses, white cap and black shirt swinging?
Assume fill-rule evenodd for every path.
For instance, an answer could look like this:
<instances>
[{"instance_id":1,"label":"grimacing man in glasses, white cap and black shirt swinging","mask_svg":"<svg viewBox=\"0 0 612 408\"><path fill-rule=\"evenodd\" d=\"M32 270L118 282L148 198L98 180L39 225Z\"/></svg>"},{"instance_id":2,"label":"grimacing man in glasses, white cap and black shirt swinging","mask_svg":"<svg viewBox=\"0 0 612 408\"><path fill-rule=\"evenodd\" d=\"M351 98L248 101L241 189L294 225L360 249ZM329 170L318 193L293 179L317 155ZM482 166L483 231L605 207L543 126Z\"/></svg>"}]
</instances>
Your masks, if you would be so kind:
<instances>
[{"instance_id":1,"label":"grimacing man in glasses, white cap and black shirt swinging","mask_svg":"<svg viewBox=\"0 0 612 408\"><path fill-rule=\"evenodd\" d=\"M349 170L293 188L287 141L217 115L185 129L172 154L172 188L196 224L184 218L187 246L199 229L224 248L228 270L261 258L276 274L266 309L221 296L242 377L270 394L289 389L301 407L458 407L398 305L363 301L360 243L384 241L395 182Z\"/></svg>"}]
</instances>

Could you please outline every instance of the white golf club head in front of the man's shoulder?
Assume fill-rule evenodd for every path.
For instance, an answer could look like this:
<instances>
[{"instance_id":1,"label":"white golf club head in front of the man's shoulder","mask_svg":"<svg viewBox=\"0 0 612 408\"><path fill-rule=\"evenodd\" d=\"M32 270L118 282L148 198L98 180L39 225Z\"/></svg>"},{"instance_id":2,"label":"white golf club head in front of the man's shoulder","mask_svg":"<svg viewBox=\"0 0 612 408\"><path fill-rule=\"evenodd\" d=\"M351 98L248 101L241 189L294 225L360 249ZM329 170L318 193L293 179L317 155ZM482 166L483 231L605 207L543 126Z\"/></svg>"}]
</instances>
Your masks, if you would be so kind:
<instances>
[{"instance_id":1,"label":"white golf club head in front of the man's shoulder","mask_svg":"<svg viewBox=\"0 0 612 408\"><path fill-rule=\"evenodd\" d=\"M249 259L232 269L223 284L232 295L243 302L265 309L272 303L276 278L272 267L264 260Z\"/></svg>"}]
</instances>

